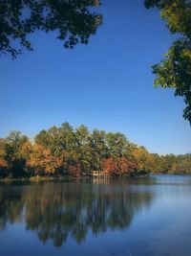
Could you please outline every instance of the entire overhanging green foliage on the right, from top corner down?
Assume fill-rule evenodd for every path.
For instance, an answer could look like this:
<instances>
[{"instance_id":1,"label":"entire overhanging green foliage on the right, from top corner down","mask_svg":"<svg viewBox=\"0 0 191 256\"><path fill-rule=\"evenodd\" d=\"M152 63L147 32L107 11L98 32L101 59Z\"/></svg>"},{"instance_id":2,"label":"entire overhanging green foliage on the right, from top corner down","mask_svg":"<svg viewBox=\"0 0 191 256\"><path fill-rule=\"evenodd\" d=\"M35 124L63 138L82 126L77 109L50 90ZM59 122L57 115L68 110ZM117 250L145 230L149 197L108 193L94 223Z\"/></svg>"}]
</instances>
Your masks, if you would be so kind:
<instances>
[{"instance_id":1,"label":"entire overhanging green foliage on the right, from top corner down","mask_svg":"<svg viewBox=\"0 0 191 256\"><path fill-rule=\"evenodd\" d=\"M157 7L171 34L181 37L174 41L165 58L153 65L155 85L175 89L186 105L183 117L191 124L191 3L184 0L145 0L146 8Z\"/></svg>"}]
</instances>

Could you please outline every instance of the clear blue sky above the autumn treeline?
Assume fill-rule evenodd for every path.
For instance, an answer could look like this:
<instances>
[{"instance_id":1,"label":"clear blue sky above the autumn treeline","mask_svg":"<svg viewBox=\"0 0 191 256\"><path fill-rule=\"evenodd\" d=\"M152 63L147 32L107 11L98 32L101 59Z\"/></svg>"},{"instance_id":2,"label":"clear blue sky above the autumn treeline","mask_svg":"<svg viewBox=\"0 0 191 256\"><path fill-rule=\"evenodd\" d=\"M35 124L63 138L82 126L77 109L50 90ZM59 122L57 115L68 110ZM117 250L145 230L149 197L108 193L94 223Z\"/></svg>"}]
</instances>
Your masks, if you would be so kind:
<instances>
[{"instance_id":1,"label":"clear blue sky above the autumn treeline","mask_svg":"<svg viewBox=\"0 0 191 256\"><path fill-rule=\"evenodd\" d=\"M36 33L32 53L0 59L0 137L69 122L120 131L151 152L191 152L183 100L153 87L150 66L173 39L159 12L141 0L102 2L104 22L88 46L65 50Z\"/></svg>"}]
</instances>

